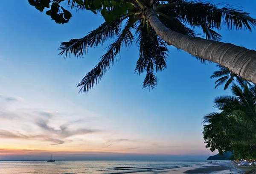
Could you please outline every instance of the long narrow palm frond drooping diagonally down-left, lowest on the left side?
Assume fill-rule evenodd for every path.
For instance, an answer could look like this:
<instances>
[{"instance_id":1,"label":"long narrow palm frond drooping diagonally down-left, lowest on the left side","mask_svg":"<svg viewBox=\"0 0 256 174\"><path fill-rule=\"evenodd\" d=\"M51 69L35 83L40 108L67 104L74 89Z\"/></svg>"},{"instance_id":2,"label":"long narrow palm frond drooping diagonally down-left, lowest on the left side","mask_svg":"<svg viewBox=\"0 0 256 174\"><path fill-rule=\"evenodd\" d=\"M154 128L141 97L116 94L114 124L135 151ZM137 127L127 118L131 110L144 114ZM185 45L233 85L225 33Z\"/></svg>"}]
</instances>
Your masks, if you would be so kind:
<instances>
[{"instance_id":1,"label":"long narrow palm frond drooping diagonally down-left, lowest on the left side","mask_svg":"<svg viewBox=\"0 0 256 174\"><path fill-rule=\"evenodd\" d=\"M134 41L134 36L131 33L130 28L135 22L139 20L138 17L129 17L122 34L116 39L116 41L107 47L108 51L101 57L101 61L91 70L82 81L76 85L80 87L80 93L89 92L99 81L103 78L103 75L110 68L111 63L113 64L114 58L119 54L121 46L124 44L128 48Z\"/></svg>"}]
</instances>

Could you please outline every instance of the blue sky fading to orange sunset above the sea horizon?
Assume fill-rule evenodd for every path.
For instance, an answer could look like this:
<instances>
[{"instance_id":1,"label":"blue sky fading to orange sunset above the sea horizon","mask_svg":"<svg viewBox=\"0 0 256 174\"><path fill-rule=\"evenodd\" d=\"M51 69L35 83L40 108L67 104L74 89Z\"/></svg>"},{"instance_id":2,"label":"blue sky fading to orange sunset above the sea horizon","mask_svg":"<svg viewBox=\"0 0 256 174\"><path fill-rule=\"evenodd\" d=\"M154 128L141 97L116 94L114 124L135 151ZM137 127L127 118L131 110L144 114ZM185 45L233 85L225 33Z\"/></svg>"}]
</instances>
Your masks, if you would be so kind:
<instances>
[{"instance_id":1,"label":"blue sky fading to orange sunset above the sea horizon","mask_svg":"<svg viewBox=\"0 0 256 174\"><path fill-rule=\"evenodd\" d=\"M214 3L223 2L213 0ZM226 2L227 3L227 2ZM256 18L256 2L230 1ZM12 10L10 10L12 9ZM217 111L210 75L201 64L169 46L167 69L154 91L142 89L134 73L136 45L122 49L119 61L90 93L79 94L81 79L111 41L90 48L84 58L58 56L58 46L84 37L102 22L92 12L73 12L56 24L26 0L0 6L0 160L49 159L206 159L203 116ZM219 31L222 41L256 49L256 30Z\"/></svg>"}]
</instances>

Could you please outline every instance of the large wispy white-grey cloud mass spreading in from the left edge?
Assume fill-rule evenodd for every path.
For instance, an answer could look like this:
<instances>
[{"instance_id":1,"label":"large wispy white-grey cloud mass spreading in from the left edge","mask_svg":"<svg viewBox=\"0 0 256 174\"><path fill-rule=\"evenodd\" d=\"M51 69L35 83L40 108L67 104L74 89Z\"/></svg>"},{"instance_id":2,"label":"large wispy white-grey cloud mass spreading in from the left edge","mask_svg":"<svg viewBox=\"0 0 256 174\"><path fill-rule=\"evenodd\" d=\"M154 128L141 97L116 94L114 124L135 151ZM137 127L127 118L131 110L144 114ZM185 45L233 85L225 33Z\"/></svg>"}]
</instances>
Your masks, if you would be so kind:
<instances>
[{"instance_id":1,"label":"large wispy white-grey cloud mass spreading in from the left edge","mask_svg":"<svg viewBox=\"0 0 256 174\"><path fill-rule=\"evenodd\" d=\"M9 131L7 125L2 125L2 130L0 130L0 138L2 139L37 140L39 142L50 142L49 145L60 145L73 141L67 139L68 137L99 132L99 130L90 128L79 128L76 124L79 124L81 119L69 121L67 113L61 113L60 117L60 113L56 111L29 107L22 101L11 104L12 101L20 101L20 98L2 95L0 99L4 104L0 107L0 119L5 119L6 122L13 121L13 124L20 125L16 126L15 131ZM59 118L64 119L58 122ZM67 124L67 122L69 123ZM54 123L54 126L51 126L50 123ZM26 127L27 124L30 126Z\"/></svg>"}]
</instances>

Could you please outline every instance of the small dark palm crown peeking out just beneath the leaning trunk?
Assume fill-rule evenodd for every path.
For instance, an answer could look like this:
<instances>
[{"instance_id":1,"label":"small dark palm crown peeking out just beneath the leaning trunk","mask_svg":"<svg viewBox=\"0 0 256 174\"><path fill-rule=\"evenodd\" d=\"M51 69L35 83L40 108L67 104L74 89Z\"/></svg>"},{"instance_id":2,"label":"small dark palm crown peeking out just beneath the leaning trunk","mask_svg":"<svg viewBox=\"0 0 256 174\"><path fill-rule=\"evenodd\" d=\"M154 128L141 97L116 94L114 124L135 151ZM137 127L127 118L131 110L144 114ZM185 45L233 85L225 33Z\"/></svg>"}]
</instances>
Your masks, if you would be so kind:
<instances>
[{"instance_id":1,"label":"small dark palm crown peeking out just beneath the leaning trunk","mask_svg":"<svg viewBox=\"0 0 256 174\"><path fill-rule=\"evenodd\" d=\"M241 86L246 86L246 85L251 86L250 83L243 80L239 75L236 75L236 74L230 72L227 68L222 67L221 65L216 65L216 67L218 67L219 70L215 71L213 73L213 75L211 75L211 77L210 77L210 78L219 78L220 77L218 80L215 81L215 84L217 84L215 86L215 88L226 83L224 85L224 90L227 90L228 86L230 84L232 84L235 80Z\"/></svg>"}]
</instances>

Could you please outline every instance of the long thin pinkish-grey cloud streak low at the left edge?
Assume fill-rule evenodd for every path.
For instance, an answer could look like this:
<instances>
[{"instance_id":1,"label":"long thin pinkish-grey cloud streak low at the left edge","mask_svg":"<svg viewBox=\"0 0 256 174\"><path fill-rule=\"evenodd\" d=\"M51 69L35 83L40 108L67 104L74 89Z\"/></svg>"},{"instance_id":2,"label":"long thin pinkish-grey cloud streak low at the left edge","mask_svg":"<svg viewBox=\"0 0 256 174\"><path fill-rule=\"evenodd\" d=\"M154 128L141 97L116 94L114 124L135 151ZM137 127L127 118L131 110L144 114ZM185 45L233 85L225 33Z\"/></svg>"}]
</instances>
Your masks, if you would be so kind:
<instances>
[{"instance_id":1,"label":"long thin pinkish-grey cloud streak low at the left edge","mask_svg":"<svg viewBox=\"0 0 256 174\"><path fill-rule=\"evenodd\" d=\"M64 141L52 138L49 135L40 134L40 135L24 135L20 133L19 131L8 131L8 130L0 130L0 138L6 138L6 139L35 139L35 140L41 140L45 142L52 142L54 144L50 145L60 145L63 144Z\"/></svg>"}]
</instances>

